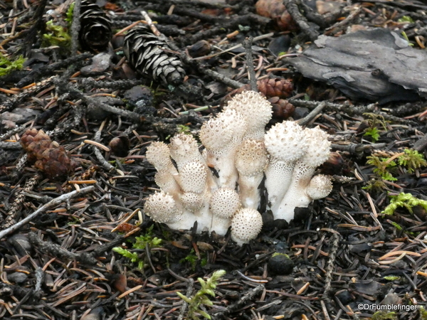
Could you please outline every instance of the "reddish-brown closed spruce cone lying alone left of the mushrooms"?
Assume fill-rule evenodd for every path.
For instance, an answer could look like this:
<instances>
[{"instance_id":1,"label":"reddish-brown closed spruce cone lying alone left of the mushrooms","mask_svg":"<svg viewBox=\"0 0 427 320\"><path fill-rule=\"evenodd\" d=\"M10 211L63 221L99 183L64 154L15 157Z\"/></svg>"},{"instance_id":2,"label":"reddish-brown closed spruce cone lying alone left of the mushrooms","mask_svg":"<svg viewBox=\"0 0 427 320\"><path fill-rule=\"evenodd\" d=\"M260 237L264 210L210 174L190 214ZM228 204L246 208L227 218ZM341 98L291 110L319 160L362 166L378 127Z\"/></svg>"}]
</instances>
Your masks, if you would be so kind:
<instances>
[{"instance_id":1,"label":"reddish-brown closed spruce cone lying alone left of the mushrooms","mask_svg":"<svg viewBox=\"0 0 427 320\"><path fill-rule=\"evenodd\" d=\"M34 163L36 169L48 178L61 181L73 174L74 161L70 159L64 147L58 142L52 142L43 130L28 129L21 137L21 145L27 152L28 161Z\"/></svg>"}]
</instances>

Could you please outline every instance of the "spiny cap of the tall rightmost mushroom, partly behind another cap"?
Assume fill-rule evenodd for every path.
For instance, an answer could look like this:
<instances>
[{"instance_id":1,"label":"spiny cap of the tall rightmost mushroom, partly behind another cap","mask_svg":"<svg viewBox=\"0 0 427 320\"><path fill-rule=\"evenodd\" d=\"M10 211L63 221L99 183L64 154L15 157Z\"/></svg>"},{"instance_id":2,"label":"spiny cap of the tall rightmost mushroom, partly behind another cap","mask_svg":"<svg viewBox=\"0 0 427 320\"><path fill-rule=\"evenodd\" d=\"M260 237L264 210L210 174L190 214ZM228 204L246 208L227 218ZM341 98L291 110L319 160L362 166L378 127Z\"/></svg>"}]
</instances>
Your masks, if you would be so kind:
<instances>
[{"instance_id":1,"label":"spiny cap of the tall rightmost mushroom, partly behind another cap","mask_svg":"<svg viewBox=\"0 0 427 320\"><path fill-rule=\"evenodd\" d=\"M330 157L331 143L327 140L328 134L319 127L307 128L304 132L308 147L301 161L307 166L320 166Z\"/></svg>"}]
</instances>

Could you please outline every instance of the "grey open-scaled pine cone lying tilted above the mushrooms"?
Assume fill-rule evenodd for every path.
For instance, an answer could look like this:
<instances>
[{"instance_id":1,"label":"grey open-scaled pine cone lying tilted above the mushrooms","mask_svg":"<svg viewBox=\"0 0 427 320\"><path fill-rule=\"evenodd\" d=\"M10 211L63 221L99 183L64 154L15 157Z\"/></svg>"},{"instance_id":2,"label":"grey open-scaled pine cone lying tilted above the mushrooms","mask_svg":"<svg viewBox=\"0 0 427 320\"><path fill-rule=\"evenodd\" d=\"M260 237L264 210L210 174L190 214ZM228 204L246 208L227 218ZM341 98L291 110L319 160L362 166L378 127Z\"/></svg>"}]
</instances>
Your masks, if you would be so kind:
<instances>
[{"instance_id":1,"label":"grey open-scaled pine cone lying tilted above the mushrooms","mask_svg":"<svg viewBox=\"0 0 427 320\"><path fill-rule=\"evenodd\" d=\"M184 80L181 60L148 26L132 28L125 37L123 50L127 60L139 73L149 75L154 80L160 78L167 85L179 85Z\"/></svg>"}]
</instances>

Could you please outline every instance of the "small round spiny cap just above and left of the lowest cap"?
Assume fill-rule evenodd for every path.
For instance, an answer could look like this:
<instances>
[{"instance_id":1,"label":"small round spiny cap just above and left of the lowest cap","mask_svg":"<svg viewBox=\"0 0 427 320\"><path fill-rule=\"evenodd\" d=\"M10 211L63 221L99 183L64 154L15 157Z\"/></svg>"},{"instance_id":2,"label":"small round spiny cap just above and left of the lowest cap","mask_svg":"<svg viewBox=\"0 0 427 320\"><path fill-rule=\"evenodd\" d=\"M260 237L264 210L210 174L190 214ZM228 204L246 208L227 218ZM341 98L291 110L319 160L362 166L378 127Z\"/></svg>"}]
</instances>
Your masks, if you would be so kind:
<instances>
[{"instance_id":1,"label":"small round spiny cap just above and left of the lowest cap","mask_svg":"<svg viewBox=\"0 0 427 320\"><path fill-rule=\"evenodd\" d=\"M229 219L241 207L238 193L231 188L218 188L211 196L212 215Z\"/></svg>"}]
</instances>

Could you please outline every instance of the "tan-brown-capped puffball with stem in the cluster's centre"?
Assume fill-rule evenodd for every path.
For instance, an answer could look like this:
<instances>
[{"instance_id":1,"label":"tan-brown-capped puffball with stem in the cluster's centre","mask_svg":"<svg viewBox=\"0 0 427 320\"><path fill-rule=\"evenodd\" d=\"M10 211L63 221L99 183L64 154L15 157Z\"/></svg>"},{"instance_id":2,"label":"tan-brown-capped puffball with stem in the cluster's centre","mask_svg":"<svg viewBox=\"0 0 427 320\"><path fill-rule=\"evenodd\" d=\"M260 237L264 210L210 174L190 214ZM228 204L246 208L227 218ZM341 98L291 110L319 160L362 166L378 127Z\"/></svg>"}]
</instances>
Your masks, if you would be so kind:
<instances>
[{"instance_id":1,"label":"tan-brown-capped puffball with stem in the cluster's centre","mask_svg":"<svg viewBox=\"0 0 427 320\"><path fill-rule=\"evenodd\" d=\"M238 192L243 208L258 208L260 191L258 186L264 178L268 155L261 140L248 139L239 146L236 153L238 171Z\"/></svg>"}]
</instances>

